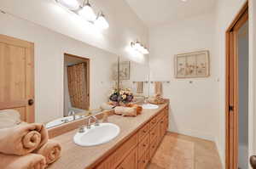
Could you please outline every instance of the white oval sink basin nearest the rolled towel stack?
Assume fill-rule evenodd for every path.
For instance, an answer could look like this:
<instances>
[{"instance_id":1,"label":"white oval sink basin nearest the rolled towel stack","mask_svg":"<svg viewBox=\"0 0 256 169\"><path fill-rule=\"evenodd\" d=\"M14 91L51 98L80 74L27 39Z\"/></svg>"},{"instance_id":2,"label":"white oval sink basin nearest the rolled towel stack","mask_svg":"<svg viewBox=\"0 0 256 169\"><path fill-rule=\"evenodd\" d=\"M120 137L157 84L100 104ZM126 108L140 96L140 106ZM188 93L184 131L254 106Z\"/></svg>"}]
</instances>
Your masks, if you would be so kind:
<instances>
[{"instance_id":1,"label":"white oval sink basin nearest the rolled towel stack","mask_svg":"<svg viewBox=\"0 0 256 169\"><path fill-rule=\"evenodd\" d=\"M73 141L80 146L105 144L116 138L119 132L120 128L113 123L100 123L100 126L92 125L90 129L84 128L84 132L77 132Z\"/></svg>"}]
</instances>

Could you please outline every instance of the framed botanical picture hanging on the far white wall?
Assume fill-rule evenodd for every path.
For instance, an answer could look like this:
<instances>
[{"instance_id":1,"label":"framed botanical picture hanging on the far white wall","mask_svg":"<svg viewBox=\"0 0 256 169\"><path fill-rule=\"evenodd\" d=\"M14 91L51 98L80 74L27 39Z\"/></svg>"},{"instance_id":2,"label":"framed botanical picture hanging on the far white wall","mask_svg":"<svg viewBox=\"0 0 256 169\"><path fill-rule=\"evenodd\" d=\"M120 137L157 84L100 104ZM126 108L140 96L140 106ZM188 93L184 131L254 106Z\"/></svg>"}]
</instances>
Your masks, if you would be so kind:
<instances>
[{"instance_id":1,"label":"framed botanical picture hanging on the far white wall","mask_svg":"<svg viewBox=\"0 0 256 169\"><path fill-rule=\"evenodd\" d=\"M188 54L177 54L174 58L174 72L176 78L210 76L210 58L208 50Z\"/></svg>"}]
</instances>

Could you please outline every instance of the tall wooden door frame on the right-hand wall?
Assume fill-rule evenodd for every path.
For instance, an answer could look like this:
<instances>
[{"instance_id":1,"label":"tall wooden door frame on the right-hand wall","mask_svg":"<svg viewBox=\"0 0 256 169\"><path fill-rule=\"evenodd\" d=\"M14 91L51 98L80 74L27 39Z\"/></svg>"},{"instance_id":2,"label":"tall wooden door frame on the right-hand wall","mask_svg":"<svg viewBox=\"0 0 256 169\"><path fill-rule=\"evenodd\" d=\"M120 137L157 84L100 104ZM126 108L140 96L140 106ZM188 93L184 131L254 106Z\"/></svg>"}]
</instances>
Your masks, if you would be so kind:
<instances>
[{"instance_id":1,"label":"tall wooden door frame on the right-hand wall","mask_svg":"<svg viewBox=\"0 0 256 169\"><path fill-rule=\"evenodd\" d=\"M225 90L225 163L226 169L238 168L238 57L237 31L248 20L248 1L226 31L226 90ZM230 62L232 64L230 64ZM230 83L230 82L233 83ZM231 85L230 85L231 84ZM230 90L233 92L230 93ZM231 110L230 110L231 106ZM232 112L232 113L230 113Z\"/></svg>"}]
</instances>

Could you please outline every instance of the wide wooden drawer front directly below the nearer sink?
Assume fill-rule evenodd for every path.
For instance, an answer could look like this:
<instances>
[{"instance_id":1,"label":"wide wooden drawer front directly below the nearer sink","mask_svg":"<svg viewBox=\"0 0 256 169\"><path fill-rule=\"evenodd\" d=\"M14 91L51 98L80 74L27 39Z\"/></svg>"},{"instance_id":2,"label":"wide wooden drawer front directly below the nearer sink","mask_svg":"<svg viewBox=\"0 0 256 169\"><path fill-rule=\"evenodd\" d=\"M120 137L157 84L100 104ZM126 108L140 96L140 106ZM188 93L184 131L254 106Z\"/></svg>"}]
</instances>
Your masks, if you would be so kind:
<instances>
[{"instance_id":1,"label":"wide wooden drawer front directly below the nearer sink","mask_svg":"<svg viewBox=\"0 0 256 169\"><path fill-rule=\"evenodd\" d=\"M116 168L119 166L120 162L125 159L125 156L137 146L137 134L131 136L124 144L122 144L118 149L113 151L113 154L108 156L105 161L99 166L96 166L96 169L109 169Z\"/></svg>"}]
</instances>

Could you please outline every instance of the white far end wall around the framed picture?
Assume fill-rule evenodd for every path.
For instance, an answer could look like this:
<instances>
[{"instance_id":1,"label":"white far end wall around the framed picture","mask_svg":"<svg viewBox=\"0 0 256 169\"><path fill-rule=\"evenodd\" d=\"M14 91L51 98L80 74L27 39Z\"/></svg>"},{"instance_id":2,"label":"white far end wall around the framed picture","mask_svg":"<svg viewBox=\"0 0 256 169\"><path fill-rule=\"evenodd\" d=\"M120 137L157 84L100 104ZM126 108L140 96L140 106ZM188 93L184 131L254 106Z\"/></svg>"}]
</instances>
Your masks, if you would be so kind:
<instances>
[{"instance_id":1,"label":"white far end wall around the framed picture","mask_svg":"<svg viewBox=\"0 0 256 169\"><path fill-rule=\"evenodd\" d=\"M204 14L149 30L150 80L171 81L164 84L164 96L171 101L170 130L213 141L218 132L219 112L215 32L215 14ZM175 54L204 49L210 51L210 77L174 78Z\"/></svg>"}]
</instances>

